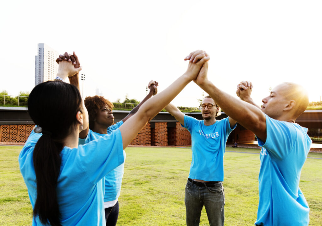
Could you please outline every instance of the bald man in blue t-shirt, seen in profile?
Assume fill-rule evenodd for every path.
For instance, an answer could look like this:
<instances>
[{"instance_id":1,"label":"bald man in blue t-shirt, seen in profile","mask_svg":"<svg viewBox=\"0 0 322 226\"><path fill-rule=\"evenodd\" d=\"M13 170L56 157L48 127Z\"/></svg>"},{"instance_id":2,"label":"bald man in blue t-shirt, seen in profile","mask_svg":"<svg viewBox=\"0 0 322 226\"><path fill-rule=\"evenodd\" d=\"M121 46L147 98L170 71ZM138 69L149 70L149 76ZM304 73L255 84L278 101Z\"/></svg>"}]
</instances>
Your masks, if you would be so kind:
<instances>
[{"instance_id":1,"label":"bald man in blue t-shirt, seen in profile","mask_svg":"<svg viewBox=\"0 0 322 226\"><path fill-rule=\"evenodd\" d=\"M194 55L190 54L186 59L193 61ZM308 225L309 207L298 185L312 140L307 135L308 129L295 123L308 106L308 94L304 88L294 83L282 83L262 99L259 108L245 102L253 103L250 83L239 84L237 93L245 101L238 100L208 80L206 65L195 83L229 117L253 131L262 147L260 199L255 225Z\"/></svg>"}]
</instances>

